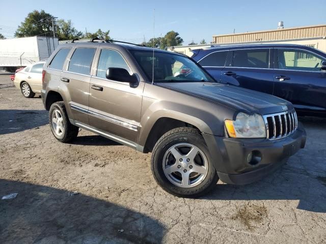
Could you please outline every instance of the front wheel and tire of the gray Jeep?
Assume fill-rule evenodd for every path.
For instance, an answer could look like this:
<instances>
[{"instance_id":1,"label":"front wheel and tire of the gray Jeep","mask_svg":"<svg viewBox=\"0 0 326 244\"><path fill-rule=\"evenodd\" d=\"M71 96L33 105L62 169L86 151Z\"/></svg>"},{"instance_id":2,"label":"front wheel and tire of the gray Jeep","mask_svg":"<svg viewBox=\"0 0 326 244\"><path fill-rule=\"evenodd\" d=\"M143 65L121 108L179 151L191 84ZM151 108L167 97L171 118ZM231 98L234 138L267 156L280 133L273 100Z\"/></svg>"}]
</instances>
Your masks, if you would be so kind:
<instances>
[{"instance_id":1,"label":"front wheel and tire of the gray Jeep","mask_svg":"<svg viewBox=\"0 0 326 244\"><path fill-rule=\"evenodd\" d=\"M181 127L155 144L151 168L158 185L178 197L198 197L216 186L219 176L197 129Z\"/></svg>"}]
</instances>

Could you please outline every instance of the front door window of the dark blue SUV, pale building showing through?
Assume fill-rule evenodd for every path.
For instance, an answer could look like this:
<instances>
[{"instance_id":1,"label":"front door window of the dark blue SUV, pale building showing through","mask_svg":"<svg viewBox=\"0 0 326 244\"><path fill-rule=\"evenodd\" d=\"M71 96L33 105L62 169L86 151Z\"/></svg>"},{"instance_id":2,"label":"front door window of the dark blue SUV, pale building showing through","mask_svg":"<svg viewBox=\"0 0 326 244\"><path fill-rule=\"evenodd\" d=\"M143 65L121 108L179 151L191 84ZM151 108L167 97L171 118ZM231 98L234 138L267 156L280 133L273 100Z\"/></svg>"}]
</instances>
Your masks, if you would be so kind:
<instances>
[{"instance_id":1,"label":"front door window of the dark blue SUV, pale building showing through","mask_svg":"<svg viewBox=\"0 0 326 244\"><path fill-rule=\"evenodd\" d=\"M300 49L278 49L277 61L279 69L283 70L319 71L323 60Z\"/></svg>"}]
</instances>

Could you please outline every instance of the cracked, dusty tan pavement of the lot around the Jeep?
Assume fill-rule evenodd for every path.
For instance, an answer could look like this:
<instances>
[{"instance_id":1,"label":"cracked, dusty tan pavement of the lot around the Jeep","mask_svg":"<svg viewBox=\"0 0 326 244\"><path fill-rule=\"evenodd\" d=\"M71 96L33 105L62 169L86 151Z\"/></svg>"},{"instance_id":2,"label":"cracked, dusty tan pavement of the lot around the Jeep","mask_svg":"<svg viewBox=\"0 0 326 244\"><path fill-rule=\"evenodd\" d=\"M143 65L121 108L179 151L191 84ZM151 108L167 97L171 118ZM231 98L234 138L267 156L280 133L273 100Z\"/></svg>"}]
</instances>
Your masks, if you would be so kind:
<instances>
[{"instance_id":1,"label":"cracked, dusty tan pavement of the lot around the Jeep","mask_svg":"<svg viewBox=\"0 0 326 244\"><path fill-rule=\"evenodd\" d=\"M150 154L82 130L51 134L39 97L0 76L0 243L325 243L326 119L299 118L306 147L247 186L200 199L156 185Z\"/></svg>"}]
</instances>

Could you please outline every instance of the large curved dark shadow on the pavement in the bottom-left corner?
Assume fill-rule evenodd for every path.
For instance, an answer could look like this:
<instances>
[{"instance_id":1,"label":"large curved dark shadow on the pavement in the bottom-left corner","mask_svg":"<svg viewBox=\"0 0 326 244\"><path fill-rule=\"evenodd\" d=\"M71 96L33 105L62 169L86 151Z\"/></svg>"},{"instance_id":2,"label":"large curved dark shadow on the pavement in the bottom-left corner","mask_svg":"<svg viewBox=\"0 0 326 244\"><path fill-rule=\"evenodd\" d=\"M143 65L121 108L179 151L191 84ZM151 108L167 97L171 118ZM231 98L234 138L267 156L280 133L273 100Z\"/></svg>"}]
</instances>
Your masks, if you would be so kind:
<instances>
[{"instance_id":1,"label":"large curved dark shadow on the pavement in the bottom-left corner","mask_svg":"<svg viewBox=\"0 0 326 244\"><path fill-rule=\"evenodd\" d=\"M0 243L159 243L148 216L83 194L0 179ZM1 199L1 198L0 198Z\"/></svg>"}]
</instances>

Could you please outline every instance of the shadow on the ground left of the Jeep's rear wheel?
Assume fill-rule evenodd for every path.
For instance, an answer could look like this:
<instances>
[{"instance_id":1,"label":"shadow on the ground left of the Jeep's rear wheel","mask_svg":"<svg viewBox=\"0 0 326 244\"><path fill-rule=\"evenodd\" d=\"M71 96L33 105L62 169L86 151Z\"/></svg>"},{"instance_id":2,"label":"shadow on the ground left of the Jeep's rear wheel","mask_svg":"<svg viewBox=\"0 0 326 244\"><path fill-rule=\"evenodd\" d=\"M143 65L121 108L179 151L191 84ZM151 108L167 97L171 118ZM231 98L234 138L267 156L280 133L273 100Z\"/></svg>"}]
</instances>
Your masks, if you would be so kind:
<instances>
[{"instance_id":1,"label":"shadow on the ground left of the Jeep's rear wheel","mask_svg":"<svg viewBox=\"0 0 326 244\"><path fill-rule=\"evenodd\" d=\"M0 110L0 135L25 131L48 124L46 110Z\"/></svg>"}]
</instances>

